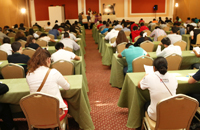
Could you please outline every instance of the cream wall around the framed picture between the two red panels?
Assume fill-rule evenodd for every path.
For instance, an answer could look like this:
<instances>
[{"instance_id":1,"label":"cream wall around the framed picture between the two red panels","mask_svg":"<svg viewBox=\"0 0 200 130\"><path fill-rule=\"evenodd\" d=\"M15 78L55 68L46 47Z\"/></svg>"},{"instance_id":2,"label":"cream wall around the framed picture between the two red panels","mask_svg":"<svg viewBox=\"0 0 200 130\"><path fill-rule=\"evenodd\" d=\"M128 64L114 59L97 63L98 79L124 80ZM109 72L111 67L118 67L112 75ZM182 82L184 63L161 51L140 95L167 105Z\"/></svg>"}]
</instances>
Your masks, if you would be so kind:
<instances>
[{"instance_id":1,"label":"cream wall around the framed picture between the two red panels","mask_svg":"<svg viewBox=\"0 0 200 130\"><path fill-rule=\"evenodd\" d=\"M103 13L103 4L113 5L115 3L116 17L124 17L124 0L100 0L101 13Z\"/></svg>"}]
</instances>

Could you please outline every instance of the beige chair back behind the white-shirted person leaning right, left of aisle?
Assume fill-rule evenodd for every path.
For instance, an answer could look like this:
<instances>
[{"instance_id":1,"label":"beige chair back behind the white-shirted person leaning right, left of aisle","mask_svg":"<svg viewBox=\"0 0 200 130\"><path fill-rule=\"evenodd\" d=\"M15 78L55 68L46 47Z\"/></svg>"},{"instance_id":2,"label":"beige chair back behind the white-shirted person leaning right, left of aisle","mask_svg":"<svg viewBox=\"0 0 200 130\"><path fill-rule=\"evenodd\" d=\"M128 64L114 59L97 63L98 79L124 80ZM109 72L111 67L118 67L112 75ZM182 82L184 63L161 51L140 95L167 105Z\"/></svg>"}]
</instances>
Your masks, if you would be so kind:
<instances>
[{"instance_id":1,"label":"beige chair back behind the white-shirted person leaning right, left of aisle","mask_svg":"<svg viewBox=\"0 0 200 130\"><path fill-rule=\"evenodd\" d=\"M66 60L59 60L51 64L51 68L57 69L62 75L74 74L74 63Z\"/></svg>"}]
</instances>

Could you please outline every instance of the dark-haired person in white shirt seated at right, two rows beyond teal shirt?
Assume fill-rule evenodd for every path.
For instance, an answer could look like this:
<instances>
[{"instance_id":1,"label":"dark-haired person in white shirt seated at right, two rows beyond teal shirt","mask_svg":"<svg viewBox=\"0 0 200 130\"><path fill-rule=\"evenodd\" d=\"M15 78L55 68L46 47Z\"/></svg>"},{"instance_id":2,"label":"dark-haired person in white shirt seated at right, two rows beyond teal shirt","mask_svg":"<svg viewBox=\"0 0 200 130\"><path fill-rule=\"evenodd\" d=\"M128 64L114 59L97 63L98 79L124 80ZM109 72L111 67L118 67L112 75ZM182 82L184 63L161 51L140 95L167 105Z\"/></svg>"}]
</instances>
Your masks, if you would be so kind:
<instances>
[{"instance_id":1,"label":"dark-haired person in white shirt seated at right, two rows beyond teal shirt","mask_svg":"<svg viewBox=\"0 0 200 130\"><path fill-rule=\"evenodd\" d=\"M178 35L177 33L178 33L178 28L177 27L172 27L171 34L167 35L167 37L171 41L171 44L174 44L174 43L182 40L182 36Z\"/></svg>"}]
</instances>

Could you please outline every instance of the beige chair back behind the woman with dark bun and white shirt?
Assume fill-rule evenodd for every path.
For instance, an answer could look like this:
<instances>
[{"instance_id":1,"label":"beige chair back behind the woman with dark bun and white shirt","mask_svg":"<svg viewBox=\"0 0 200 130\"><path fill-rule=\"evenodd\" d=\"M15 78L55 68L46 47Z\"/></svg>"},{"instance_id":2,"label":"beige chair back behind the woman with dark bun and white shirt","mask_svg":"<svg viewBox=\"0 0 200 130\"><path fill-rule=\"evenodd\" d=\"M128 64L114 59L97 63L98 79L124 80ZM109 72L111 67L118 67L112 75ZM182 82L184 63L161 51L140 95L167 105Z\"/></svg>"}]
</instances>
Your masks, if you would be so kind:
<instances>
[{"instance_id":1,"label":"beige chair back behind the woman with dark bun and white shirt","mask_svg":"<svg viewBox=\"0 0 200 130\"><path fill-rule=\"evenodd\" d=\"M196 99L184 94L177 94L161 100L156 107L158 129L190 129L191 121L199 103Z\"/></svg>"}]
</instances>

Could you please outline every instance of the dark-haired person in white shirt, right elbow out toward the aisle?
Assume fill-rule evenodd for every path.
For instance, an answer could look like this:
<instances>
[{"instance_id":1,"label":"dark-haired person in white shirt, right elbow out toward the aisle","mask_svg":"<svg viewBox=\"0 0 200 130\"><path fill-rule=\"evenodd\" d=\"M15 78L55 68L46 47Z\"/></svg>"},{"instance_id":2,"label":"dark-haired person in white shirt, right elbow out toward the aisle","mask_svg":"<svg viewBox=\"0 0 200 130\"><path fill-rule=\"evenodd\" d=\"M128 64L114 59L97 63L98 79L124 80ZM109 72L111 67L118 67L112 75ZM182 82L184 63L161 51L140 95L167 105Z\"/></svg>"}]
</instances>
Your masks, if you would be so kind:
<instances>
[{"instance_id":1,"label":"dark-haired person in white shirt, right elbow out toward the aisle","mask_svg":"<svg viewBox=\"0 0 200 130\"><path fill-rule=\"evenodd\" d=\"M51 60L56 62L58 60L80 60L80 57L75 55L73 52L64 50L64 45L61 42L58 42L55 45L56 52L51 55Z\"/></svg>"}]
</instances>

